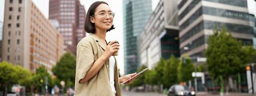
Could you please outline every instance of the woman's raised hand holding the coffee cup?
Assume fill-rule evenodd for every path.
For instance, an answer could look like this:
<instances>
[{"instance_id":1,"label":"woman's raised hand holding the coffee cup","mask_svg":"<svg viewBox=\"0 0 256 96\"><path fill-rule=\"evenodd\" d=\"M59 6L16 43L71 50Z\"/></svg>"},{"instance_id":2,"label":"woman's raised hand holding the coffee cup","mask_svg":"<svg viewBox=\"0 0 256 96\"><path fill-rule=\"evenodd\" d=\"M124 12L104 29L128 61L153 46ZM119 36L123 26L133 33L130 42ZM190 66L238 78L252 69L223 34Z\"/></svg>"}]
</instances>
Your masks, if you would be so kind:
<instances>
[{"instance_id":1,"label":"woman's raised hand holding the coffee cup","mask_svg":"<svg viewBox=\"0 0 256 96\"><path fill-rule=\"evenodd\" d=\"M106 59L109 59L110 56L119 50L119 44L116 43L117 40L113 40L110 42L110 44L107 45L103 55L106 57Z\"/></svg>"}]
</instances>

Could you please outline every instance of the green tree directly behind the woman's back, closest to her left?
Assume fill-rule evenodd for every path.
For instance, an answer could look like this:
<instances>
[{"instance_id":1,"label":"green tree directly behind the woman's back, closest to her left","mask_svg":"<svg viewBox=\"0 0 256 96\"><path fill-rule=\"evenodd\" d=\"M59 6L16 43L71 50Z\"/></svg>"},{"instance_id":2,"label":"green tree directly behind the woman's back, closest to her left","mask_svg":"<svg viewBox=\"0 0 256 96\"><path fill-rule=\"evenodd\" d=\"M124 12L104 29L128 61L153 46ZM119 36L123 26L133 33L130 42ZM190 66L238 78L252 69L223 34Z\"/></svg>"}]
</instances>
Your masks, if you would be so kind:
<instances>
[{"instance_id":1,"label":"green tree directly behind the woman's back, closest to her left","mask_svg":"<svg viewBox=\"0 0 256 96\"><path fill-rule=\"evenodd\" d=\"M71 53L65 53L52 68L59 81L64 81L66 87L73 87L75 82L76 59ZM59 84L59 83L58 83Z\"/></svg>"}]
</instances>

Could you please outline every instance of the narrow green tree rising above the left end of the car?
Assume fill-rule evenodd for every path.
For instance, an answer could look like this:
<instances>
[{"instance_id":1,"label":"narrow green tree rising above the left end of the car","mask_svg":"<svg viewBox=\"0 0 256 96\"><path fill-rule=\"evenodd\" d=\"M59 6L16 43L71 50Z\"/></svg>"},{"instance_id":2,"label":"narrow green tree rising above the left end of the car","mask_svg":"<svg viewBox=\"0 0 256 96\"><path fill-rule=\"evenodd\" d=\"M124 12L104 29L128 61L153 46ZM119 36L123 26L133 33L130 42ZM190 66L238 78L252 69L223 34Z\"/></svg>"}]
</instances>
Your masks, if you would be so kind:
<instances>
[{"instance_id":1,"label":"narrow green tree rising above the left end of the car","mask_svg":"<svg viewBox=\"0 0 256 96\"><path fill-rule=\"evenodd\" d=\"M178 65L179 60L171 55L170 59L166 60L166 63L163 68L163 84L164 87L169 88L173 84L178 83Z\"/></svg>"}]
</instances>

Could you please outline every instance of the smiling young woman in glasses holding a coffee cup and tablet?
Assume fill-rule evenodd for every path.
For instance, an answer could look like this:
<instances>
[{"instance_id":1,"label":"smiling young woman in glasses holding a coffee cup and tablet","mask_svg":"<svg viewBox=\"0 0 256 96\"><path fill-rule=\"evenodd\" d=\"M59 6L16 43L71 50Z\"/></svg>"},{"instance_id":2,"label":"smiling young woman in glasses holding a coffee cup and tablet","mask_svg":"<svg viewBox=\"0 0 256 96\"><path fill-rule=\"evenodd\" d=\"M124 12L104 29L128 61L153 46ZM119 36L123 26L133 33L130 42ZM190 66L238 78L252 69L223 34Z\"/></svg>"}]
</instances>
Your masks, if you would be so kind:
<instances>
[{"instance_id":1,"label":"smiling young woman in glasses holding a coffee cup and tablet","mask_svg":"<svg viewBox=\"0 0 256 96\"><path fill-rule=\"evenodd\" d=\"M94 2L85 18L84 37L77 45L75 96L121 96L119 84L130 79L136 73L118 76L116 57L119 44L116 40L109 44L106 33L114 29L115 13L103 1ZM131 84L133 79L125 84Z\"/></svg>"}]
</instances>

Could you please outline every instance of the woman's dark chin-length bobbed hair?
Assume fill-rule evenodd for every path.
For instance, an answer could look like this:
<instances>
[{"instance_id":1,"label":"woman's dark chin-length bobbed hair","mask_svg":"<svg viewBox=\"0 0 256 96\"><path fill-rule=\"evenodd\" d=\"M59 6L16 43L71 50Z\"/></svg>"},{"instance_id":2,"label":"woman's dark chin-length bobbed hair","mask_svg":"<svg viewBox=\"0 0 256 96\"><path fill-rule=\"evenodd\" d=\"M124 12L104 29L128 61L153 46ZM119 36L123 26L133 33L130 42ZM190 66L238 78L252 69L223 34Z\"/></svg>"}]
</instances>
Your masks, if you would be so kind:
<instances>
[{"instance_id":1,"label":"woman's dark chin-length bobbed hair","mask_svg":"<svg viewBox=\"0 0 256 96\"><path fill-rule=\"evenodd\" d=\"M96 28L95 28L94 23L92 23L90 21L90 18L91 18L91 16L94 15L95 9L101 3L109 5L108 3L104 2L104 1L96 1L96 2L92 3L92 5L89 7L89 9L87 11L87 14L86 14L86 17L85 17L85 31L87 33L95 33ZM111 28L107 30L107 32L112 30L112 29L115 29L114 25L112 25Z\"/></svg>"}]
</instances>

